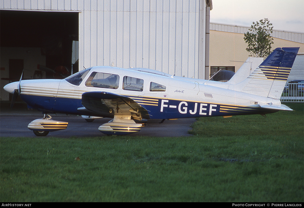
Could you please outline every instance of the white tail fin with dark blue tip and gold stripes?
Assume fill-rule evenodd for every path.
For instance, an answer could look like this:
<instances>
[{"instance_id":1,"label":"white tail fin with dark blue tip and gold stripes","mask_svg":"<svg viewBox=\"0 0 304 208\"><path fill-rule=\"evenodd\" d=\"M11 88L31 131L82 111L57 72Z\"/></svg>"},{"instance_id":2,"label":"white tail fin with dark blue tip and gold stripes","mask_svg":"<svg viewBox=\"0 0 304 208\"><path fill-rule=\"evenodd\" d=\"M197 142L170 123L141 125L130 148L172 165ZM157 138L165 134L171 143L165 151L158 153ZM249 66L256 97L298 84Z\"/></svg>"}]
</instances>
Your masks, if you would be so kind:
<instances>
[{"instance_id":1,"label":"white tail fin with dark blue tip and gold stripes","mask_svg":"<svg viewBox=\"0 0 304 208\"><path fill-rule=\"evenodd\" d=\"M277 48L254 70L238 89L263 97L280 99L299 48Z\"/></svg>"}]
</instances>

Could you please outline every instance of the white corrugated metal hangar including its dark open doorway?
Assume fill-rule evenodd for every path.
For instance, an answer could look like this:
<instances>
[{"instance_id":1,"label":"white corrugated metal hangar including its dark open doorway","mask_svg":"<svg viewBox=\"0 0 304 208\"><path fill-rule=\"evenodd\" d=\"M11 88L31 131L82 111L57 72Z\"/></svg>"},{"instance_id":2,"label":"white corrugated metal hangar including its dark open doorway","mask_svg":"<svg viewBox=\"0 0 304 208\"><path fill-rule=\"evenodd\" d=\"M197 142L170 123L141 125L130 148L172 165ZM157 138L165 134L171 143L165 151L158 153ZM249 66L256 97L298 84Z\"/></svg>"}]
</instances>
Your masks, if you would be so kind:
<instances>
[{"instance_id":1,"label":"white corrugated metal hangar including its dark open doorway","mask_svg":"<svg viewBox=\"0 0 304 208\"><path fill-rule=\"evenodd\" d=\"M0 9L2 100L3 78L16 79L15 68L23 67L33 79L38 64L74 64L73 72L143 67L205 79L211 0L1 0Z\"/></svg>"}]
</instances>

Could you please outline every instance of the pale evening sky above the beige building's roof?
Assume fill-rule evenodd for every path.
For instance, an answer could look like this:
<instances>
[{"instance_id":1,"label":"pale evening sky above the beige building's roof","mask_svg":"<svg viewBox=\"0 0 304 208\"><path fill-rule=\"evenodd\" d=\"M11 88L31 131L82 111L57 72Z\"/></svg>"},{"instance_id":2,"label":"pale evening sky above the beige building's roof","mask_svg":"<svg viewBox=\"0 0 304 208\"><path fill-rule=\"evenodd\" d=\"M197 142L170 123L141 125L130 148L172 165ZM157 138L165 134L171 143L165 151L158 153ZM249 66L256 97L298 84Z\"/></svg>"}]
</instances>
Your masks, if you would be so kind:
<instances>
[{"instance_id":1,"label":"pale evening sky above the beige building's roof","mask_svg":"<svg viewBox=\"0 0 304 208\"><path fill-rule=\"evenodd\" d=\"M304 33L304 0L212 0L212 23L250 27L264 18L273 30Z\"/></svg>"}]
</instances>

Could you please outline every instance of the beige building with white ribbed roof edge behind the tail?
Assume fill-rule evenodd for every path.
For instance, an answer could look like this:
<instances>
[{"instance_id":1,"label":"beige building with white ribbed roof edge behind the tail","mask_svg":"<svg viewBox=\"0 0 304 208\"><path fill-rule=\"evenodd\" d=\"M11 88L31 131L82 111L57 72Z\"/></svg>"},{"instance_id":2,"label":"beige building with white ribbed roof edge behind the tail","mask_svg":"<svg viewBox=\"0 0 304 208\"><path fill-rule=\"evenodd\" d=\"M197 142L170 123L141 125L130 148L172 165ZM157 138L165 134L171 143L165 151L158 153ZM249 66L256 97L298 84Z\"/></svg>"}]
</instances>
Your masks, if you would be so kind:
<instances>
[{"instance_id":1,"label":"beige building with white ribbed roof edge behind the tail","mask_svg":"<svg viewBox=\"0 0 304 208\"><path fill-rule=\"evenodd\" d=\"M210 23L210 67L234 67L235 72L250 55L246 51L244 33L250 27ZM304 79L304 33L273 30L272 49L300 47L287 81ZM211 70L212 71L212 70Z\"/></svg>"}]
</instances>

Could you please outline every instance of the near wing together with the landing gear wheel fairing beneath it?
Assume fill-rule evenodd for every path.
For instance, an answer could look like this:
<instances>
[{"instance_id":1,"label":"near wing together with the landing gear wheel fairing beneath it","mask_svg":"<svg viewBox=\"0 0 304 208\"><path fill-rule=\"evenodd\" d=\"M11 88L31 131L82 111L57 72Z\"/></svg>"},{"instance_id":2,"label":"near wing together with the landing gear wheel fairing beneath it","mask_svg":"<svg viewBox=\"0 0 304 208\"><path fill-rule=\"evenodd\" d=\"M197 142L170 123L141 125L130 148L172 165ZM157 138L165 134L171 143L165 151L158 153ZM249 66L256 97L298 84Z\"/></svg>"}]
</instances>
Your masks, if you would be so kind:
<instances>
[{"instance_id":1,"label":"near wing together with the landing gear wheel fairing beneath it","mask_svg":"<svg viewBox=\"0 0 304 208\"><path fill-rule=\"evenodd\" d=\"M110 92L85 92L79 111L95 116L114 118L99 126L99 131L108 135L123 135L140 131L142 124L136 121L149 119L148 111L133 99Z\"/></svg>"}]
</instances>

